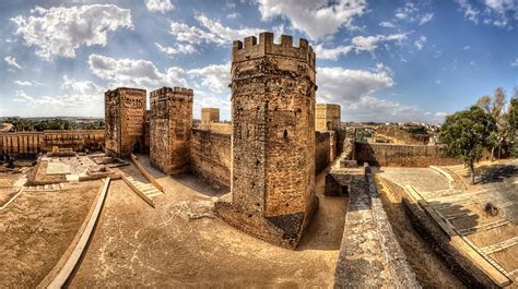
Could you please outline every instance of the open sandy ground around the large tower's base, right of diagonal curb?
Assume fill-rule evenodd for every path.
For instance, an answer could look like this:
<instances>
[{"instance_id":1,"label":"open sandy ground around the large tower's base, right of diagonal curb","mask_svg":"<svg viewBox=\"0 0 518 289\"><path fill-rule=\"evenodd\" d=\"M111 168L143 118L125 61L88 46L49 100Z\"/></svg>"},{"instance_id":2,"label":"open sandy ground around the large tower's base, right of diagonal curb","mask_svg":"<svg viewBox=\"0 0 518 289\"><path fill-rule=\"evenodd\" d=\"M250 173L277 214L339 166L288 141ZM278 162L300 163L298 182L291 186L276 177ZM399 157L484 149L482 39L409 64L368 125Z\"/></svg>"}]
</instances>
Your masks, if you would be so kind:
<instances>
[{"instance_id":1,"label":"open sandy ground around the large tower's base, right of diagonal curb","mask_svg":"<svg viewBox=\"0 0 518 289\"><path fill-rule=\"evenodd\" d=\"M72 288L332 287L346 198L320 195L315 222L291 251L215 218L219 193L196 177L152 173L165 188L155 209L122 181L111 183ZM322 179L317 181L319 191Z\"/></svg>"}]
</instances>

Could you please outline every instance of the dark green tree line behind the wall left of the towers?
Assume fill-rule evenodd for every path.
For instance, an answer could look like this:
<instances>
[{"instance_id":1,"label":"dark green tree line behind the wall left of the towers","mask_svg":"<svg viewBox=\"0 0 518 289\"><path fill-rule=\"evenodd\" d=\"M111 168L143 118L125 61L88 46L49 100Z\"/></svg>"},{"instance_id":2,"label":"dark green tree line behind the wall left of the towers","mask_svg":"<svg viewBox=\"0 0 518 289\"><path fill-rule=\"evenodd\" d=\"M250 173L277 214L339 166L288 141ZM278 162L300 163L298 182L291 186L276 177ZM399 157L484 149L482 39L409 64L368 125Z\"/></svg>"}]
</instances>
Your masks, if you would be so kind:
<instances>
[{"instance_id":1,"label":"dark green tree line behind the wall left of the towers","mask_svg":"<svg viewBox=\"0 0 518 289\"><path fill-rule=\"evenodd\" d=\"M11 131L47 131L47 130L104 130L104 120L75 122L63 119L32 120L24 118L7 118L3 122L12 123Z\"/></svg>"}]
</instances>

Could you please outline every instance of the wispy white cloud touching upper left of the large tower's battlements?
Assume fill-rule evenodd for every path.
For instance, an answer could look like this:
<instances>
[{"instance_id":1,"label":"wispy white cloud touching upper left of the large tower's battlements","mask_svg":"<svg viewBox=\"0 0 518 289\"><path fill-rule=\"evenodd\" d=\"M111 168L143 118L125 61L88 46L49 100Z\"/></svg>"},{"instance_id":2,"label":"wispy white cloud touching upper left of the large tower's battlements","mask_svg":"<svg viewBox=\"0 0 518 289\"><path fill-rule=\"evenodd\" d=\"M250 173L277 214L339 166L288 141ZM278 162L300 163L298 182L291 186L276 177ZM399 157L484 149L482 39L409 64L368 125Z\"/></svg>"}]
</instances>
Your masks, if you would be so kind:
<instances>
[{"instance_id":1,"label":"wispy white cloud touching upper left of the large tower's battlements","mask_svg":"<svg viewBox=\"0 0 518 289\"><path fill-rule=\"evenodd\" d=\"M249 27L231 28L221 24L220 21L211 20L203 14L199 14L195 19L202 27L172 22L169 33L176 37L176 40L190 45L214 43L220 46L229 46L233 40L258 35L263 31Z\"/></svg>"}]
</instances>

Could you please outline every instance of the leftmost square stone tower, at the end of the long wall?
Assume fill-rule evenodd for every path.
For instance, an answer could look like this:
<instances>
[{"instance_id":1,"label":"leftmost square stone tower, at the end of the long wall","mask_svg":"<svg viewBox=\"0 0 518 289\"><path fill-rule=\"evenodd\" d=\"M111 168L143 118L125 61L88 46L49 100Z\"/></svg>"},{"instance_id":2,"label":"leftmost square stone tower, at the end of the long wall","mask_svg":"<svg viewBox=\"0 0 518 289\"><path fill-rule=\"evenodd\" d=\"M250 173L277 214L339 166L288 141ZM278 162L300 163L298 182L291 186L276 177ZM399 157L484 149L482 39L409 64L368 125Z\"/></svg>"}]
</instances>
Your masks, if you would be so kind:
<instances>
[{"instance_id":1,"label":"leftmost square stone tower, at the end of the long wall","mask_svg":"<svg viewBox=\"0 0 518 289\"><path fill-rule=\"evenodd\" d=\"M105 93L105 150L128 157L143 147L145 89L119 87Z\"/></svg>"}]
</instances>

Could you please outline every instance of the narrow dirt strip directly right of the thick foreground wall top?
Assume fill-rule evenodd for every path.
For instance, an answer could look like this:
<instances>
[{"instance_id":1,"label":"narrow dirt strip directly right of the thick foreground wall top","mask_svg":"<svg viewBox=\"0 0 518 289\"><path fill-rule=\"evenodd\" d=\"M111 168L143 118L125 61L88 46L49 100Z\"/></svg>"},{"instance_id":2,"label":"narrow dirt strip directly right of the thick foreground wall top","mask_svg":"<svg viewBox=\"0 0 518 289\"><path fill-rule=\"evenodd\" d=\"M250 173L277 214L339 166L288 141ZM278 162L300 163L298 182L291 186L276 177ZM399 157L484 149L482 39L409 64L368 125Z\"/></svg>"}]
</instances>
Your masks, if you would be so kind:
<instances>
[{"instance_id":1,"label":"narrow dirt strip directly right of the thick foreground wall top","mask_svg":"<svg viewBox=\"0 0 518 289\"><path fill-rule=\"evenodd\" d=\"M376 185L398 242L421 286L423 288L463 288L459 279L448 270L412 228L401 207L402 189L398 185L391 185L390 189L384 186L379 177L376 178Z\"/></svg>"}]
</instances>

